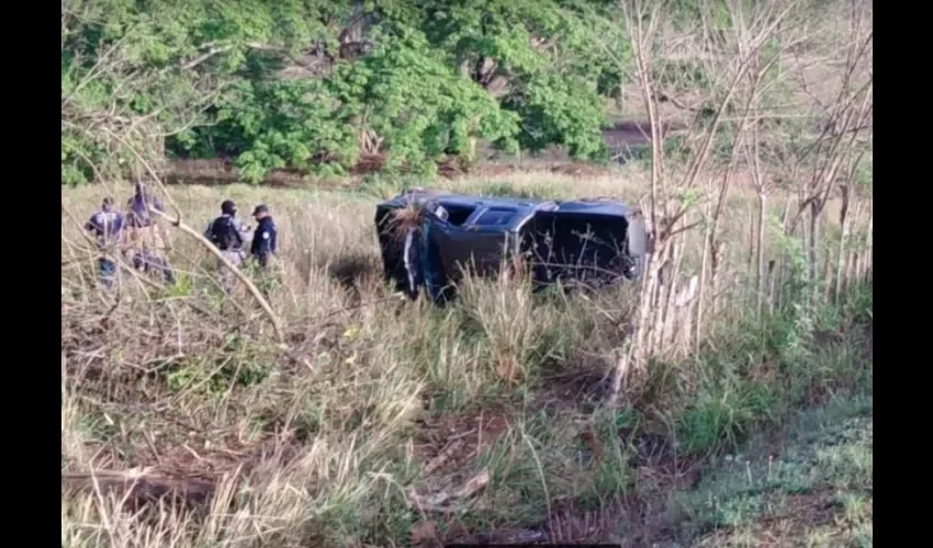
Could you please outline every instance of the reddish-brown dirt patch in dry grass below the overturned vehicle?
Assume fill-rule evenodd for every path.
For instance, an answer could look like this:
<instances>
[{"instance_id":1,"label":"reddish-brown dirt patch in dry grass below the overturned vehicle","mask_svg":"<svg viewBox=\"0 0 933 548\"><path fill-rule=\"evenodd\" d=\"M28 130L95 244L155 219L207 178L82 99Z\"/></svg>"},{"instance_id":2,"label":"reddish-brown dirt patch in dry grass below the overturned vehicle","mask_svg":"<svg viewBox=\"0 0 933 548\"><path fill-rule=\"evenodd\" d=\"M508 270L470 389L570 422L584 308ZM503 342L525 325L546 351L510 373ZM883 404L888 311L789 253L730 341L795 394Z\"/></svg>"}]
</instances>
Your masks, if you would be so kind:
<instances>
[{"instance_id":1,"label":"reddish-brown dirt patch in dry grass below the overturned vehicle","mask_svg":"<svg viewBox=\"0 0 933 548\"><path fill-rule=\"evenodd\" d=\"M449 473L479 457L509 426L502 409L431 418L415 438L415 454L425 463L425 475Z\"/></svg>"}]
</instances>

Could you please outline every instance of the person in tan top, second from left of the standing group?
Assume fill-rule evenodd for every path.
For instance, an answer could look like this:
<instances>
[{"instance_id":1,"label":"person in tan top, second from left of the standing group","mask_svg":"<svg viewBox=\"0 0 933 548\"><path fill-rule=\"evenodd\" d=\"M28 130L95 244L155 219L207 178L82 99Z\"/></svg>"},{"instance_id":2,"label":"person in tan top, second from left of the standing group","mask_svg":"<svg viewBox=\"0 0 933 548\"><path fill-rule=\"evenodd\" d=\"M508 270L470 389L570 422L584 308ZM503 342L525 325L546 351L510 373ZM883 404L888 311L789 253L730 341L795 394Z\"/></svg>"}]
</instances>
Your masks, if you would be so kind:
<instances>
[{"instance_id":1,"label":"person in tan top, second from left of the standing group","mask_svg":"<svg viewBox=\"0 0 933 548\"><path fill-rule=\"evenodd\" d=\"M165 212L158 196L153 196L146 183L136 181L135 194L127 201L126 219L131 229L133 267L151 272L159 270L166 284L175 284L175 273L165 256L166 237L153 219L149 207Z\"/></svg>"}]
</instances>

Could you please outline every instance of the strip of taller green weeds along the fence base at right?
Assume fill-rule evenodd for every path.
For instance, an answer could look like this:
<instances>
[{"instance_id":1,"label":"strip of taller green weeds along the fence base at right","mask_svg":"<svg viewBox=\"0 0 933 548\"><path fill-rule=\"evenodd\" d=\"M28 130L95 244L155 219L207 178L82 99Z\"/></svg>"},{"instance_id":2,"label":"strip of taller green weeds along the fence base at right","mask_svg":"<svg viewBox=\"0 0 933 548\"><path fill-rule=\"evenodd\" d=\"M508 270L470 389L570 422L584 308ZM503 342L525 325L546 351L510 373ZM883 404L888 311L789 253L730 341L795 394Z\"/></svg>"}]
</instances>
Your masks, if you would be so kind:
<instances>
[{"instance_id":1,"label":"strip of taller green weeds along the fence base at right","mask_svg":"<svg viewBox=\"0 0 933 548\"><path fill-rule=\"evenodd\" d=\"M696 387L682 395L683 407L675 413L682 449L704 455L735 448L756 427L809 403L814 393L870 386L864 333L872 302L870 285L852 287L841 304L794 302L721 333L722 342L710 346L716 351L697 357ZM827 341L820 333L845 336ZM769 383L758 380L769 375Z\"/></svg>"}]
</instances>

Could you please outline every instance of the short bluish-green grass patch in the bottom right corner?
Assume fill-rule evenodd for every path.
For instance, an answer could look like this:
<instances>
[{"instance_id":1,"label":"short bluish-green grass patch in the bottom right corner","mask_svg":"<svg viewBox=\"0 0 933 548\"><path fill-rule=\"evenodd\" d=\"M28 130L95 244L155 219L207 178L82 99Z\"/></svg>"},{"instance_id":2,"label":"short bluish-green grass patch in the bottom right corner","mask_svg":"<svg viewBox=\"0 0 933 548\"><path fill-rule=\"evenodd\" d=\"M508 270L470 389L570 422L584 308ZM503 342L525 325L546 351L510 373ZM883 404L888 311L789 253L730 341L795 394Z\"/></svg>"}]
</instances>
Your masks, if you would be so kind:
<instances>
[{"instance_id":1,"label":"short bluish-green grass patch in the bottom right corner","mask_svg":"<svg viewBox=\"0 0 933 548\"><path fill-rule=\"evenodd\" d=\"M873 401L834 399L678 498L697 546L872 546Z\"/></svg>"}]
</instances>

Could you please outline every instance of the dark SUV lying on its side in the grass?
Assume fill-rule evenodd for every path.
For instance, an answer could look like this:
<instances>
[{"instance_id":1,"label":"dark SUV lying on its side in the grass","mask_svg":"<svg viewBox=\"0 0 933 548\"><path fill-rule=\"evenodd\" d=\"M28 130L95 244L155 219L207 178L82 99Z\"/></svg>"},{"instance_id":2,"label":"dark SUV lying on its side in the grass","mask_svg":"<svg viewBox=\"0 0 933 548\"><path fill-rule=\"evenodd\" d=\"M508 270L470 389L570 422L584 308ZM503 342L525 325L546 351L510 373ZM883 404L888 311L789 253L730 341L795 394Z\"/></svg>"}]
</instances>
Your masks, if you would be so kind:
<instances>
[{"instance_id":1,"label":"dark SUV lying on its side in the grass","mask_svg":"<svg viewBox=\"0 0 933 548\"><path fill-rule=\"evenodd\" d=\"M647 233L640 210L610 198L549 201L407 190L376 206L384 274L416 298L453 296L464 272L524 265L537 286L602 287L637 279Z\"/></svg>"}]
</instances>

